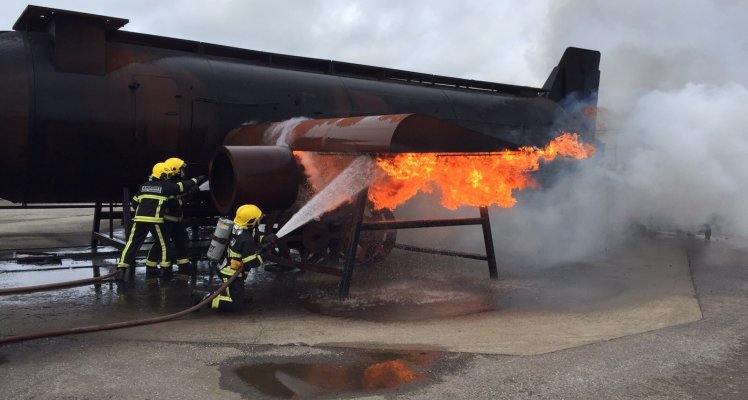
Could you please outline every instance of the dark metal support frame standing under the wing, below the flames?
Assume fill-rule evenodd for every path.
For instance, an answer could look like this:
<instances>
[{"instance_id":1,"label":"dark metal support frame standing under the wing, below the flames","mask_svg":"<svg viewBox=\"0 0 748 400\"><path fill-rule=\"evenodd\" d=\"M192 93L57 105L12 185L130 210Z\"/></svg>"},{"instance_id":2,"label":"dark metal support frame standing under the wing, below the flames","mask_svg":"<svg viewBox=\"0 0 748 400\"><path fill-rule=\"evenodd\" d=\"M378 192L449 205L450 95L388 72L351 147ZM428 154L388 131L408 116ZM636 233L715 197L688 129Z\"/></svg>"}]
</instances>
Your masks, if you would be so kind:
<instances>
[{"instance_id":1,"label":"dark metal support frame standing under the wing, below the flames","mask_svg":"<svg viewBox=\"0 0 748 400\"><path fill-rule=\"evenodd\" d=\"M358 241L361 236L361 231L373 231L373 230L388 230L388 229L414 229L414 228L433 228L433 227L446 227L446 226L464 226L464 225L481 225L483 229L483 241L486 246L486 255L482 256L479 254L462 253L458 251L448 250L437 250L429 249L425 247L409 246L409 245L395 245L396 248L403 250L416 251L421 253L430 253L438 255L446 255L452 257L470 258L475 260L484 260L488 263L488 274L491 279L496 280L499 278L499 273L496 268L496 252L493 248L493 236L491 235L491 221L488 215L487 207L479 207L480 217L479 218L451 218L451 219L440 219L440 220L419 220L419 221L376 221L376 222L363 222L364 210L366 209L368 191L364 190L356 197L356 203L354 205L354 215L352 218L350 242L348 242L348 248L345 256L345 264L343 265L343 273L340 278L340 285L338 286L338 297L348 297L351 278L353 277L353 267L356 262L356 250L358 248Z\"/></svg>"}]
</instances>

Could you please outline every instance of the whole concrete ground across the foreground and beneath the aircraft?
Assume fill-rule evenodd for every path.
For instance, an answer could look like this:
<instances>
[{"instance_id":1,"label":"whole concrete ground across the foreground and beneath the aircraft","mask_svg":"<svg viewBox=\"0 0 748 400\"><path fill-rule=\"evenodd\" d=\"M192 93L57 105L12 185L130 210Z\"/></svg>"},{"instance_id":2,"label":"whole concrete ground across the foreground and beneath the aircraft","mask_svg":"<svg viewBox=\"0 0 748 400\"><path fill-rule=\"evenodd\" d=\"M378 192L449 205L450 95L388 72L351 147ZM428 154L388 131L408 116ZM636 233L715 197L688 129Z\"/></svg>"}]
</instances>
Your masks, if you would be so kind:
<instances>
[{"instance_id":1,"label":"whole concrete ground across the foreground and beneath the aircraft","mask_svg":"<svg viewBox=\"0 0 748 400\"><path fill-rule=\"evenodd\" d=\"M632 238L553 267L500 264L490 281L478 261L394 251L355 271L347 300L335 298L334 277L259 270L254 301L237 314L2 345L0 395L743 399L746 256L726 238ZM36 274L50 272L0 273L0 287ZM204 275L194 286L135 278L0 297L0 335L162 315L210 287ZM419 379L358 387L360 365L382 360L404 360Z\"/></svg>"}]
</instances>

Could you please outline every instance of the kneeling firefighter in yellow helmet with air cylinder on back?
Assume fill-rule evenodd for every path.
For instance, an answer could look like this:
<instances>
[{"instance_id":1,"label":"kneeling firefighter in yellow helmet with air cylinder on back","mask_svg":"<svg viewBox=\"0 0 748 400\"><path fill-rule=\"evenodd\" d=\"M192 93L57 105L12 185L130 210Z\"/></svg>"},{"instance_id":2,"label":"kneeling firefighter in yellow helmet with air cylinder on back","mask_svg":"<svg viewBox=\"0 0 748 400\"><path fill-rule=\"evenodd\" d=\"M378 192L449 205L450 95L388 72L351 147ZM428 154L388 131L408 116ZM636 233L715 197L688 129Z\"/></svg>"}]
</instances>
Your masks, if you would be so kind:
<instances>
[{"instance_id":1,"label":"kneeling firefighter in yellow helmet with air cylinder on back","mask_svg":"<svg viewBox=\"0 0 748 400\"><path fill-rule=\"evenodd\" d=\"M255 241L255 227L261 216L262 211L254 204L245 204L236 210L234 227L229 237L228 254L218 267L218 275L226 282L237 269L244 266L244 270L226 290L213 299L212 308L237 311L244 305L244 281L247 279L247 273L263 262L260 246Z\"/></svg>"}]
</instances>

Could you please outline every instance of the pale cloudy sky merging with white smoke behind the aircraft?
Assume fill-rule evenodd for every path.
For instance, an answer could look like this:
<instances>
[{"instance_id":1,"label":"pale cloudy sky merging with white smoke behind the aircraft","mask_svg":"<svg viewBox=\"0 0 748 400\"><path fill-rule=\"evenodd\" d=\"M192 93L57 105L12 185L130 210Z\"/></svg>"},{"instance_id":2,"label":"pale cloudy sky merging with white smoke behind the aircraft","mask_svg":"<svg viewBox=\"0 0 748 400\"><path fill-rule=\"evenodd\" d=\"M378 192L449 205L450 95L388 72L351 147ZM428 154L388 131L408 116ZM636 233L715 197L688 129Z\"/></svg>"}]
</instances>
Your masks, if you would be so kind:
<instances>
[{"instance_id":1,"label":"pale cloudy sky merging with white smoke behind the aircraft","mask_svg":"<svg viewBox=\"0 0 748 400\"><path fill-rule=\"evenodd\" d=\"M603 154L513 209L492 209L497 247L577 257L631 223L719 220L748 235L748 2L34 3L128 18L135 32L528 86L543 84L567 46L599 50ZM4 1L0 29L26 4ZM475 246L470 236L464 246Z\"/></svg>"}]
</instances>

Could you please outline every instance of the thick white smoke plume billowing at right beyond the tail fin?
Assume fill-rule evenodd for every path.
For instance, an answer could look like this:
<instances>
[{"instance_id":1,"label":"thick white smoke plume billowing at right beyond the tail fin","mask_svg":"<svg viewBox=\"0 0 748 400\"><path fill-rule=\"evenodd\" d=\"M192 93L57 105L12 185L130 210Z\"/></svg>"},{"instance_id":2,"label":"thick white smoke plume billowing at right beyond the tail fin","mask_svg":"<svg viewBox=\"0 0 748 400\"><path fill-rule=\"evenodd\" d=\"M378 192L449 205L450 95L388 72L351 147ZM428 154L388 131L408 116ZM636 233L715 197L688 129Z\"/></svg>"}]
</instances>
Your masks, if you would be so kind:
<instances>
[{"instance_id":1,"label":"thick white smoke plume billowing at right beyond the tail fin","mask_svg":"<svg viewBox=\"0 0 748 400\"><path fill-rule=\"evenodd\" d=\"M492 208L496 248L544 265L599 254L637 224L748 235L748 4L567 0L547 18L539 76L568 46L602 54L604 148L514 208ZM479 228L462 232L445 247L480 252Z\"/></svg>"}]
</instances>

